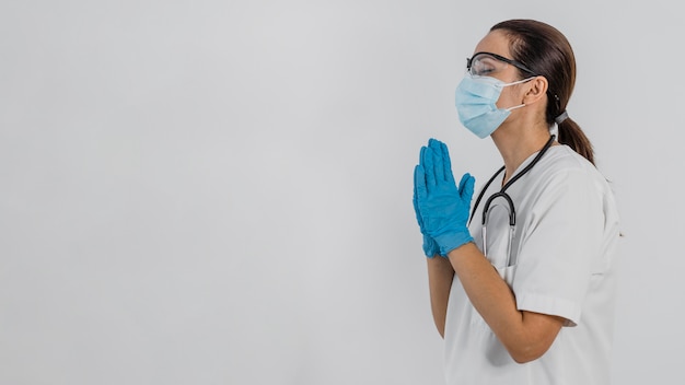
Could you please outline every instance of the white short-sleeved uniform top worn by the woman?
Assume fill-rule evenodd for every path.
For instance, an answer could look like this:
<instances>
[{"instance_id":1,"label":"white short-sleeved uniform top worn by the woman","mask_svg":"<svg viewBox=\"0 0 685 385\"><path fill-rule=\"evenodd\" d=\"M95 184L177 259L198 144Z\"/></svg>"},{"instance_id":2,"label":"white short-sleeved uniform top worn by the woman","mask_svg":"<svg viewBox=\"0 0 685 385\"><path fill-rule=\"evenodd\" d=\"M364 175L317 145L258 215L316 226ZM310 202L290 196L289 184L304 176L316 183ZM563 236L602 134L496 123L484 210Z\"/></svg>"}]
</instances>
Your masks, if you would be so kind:
<instances>
[{"instance_id":1,"label":"white short-sleeved uniform top worn by the woman","mask_svg":"<svg viewBox=\"0 0 685 385\"><path fill-rule=\"evenodd\" d=\"M501 189L503 174L488 187L469 225L481 250L483 208ZM488 259L512 289L520 311L564 317L566 327L539 359L519 364L471 304L455 276L444 334L446 383L609 384L614 256L619 237L609 185L569 147L553 145L507 194L516 213L512 255L508 258L506 252L508 209L503 198L496 198L487 226Z\"/></svg>"}]
</instances>

